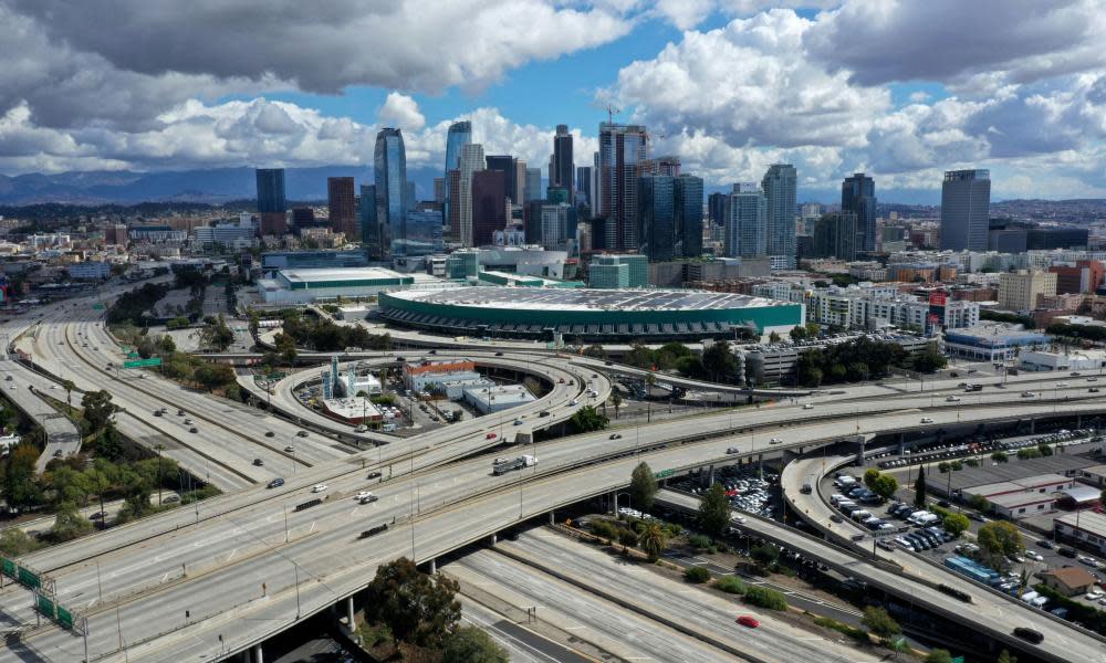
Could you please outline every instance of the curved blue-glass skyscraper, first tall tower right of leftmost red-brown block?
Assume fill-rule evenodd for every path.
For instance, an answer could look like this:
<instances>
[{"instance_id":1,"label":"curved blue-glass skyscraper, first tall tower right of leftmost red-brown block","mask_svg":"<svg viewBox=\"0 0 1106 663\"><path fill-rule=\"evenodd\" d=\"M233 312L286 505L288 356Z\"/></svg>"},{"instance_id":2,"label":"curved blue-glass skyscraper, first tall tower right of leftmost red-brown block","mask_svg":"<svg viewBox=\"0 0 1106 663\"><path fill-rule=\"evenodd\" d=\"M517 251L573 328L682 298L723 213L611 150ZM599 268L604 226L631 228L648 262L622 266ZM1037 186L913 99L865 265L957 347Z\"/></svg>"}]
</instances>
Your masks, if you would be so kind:
<instances>
[{"instance_id":1,"label":"curved blue-glass skyscraper, first tall tower right of leftmost red-brown block","mask_svg":"<svg viewBox=\"0 0 1106 663\"><path fill-rule=\"evenodd\" d=\"M407 182L407 151L399 129L386 127L376 135L373 180L376 187L376 223L379 225L380 257L393 254L407 235L407 209L414 193Z\"/></svg>"}]
</instances>

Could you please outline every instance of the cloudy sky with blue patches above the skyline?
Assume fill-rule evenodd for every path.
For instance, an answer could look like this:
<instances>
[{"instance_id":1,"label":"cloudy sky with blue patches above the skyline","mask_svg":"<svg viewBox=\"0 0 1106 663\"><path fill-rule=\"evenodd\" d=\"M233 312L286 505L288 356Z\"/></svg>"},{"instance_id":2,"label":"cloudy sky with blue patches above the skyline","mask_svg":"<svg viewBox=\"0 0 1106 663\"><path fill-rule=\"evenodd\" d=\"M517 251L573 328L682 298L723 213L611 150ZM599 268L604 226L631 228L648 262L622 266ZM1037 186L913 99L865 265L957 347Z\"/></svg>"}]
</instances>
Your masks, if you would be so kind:
<instances>
[{"instance_id":1,"label":"cloudy sky with blue patches above the skyline","mask_svg":"<svg viewBox=\"0 0 1106 663\"><path fill-rule=\"evenodd\" d=\"M273 53L273 45L251 41L257 53L230 44L204 59L146 60L138 57L143 40L117 43L128 42L131 27L96 30L115 12L61 18L66 12L48 13L51 4L0 2L0 15L14 27L13 52L54 51L43 56L39 77L0 86L6 175L367 167L385 126L404 131L409 168L440 170L446 131L459 120L472 123L487 154L544 170L549 137L561 124L575 165L586 165L607 119L596 106L609 102L620 108L615 122L648 126L650 154L679 156L707 190L791 162L800 200L833 202L843 178L865 172L883 200L932 203L943 171L966 168L991 171L994 200L1106 196L1106 67L1093 40L1106 12L1089 0L895 11L858 2L789 3L796 10L752 3L743 13L711 2L667 11L664 3L617 10L535 1L521 11L545 25L521 45L510 30L472 23L495 18L493 7L470 8L471 17L446 8L418 28L418 8L408 3L390 17L395 38L352 53L336 48L352 27L371 30L384 19L335 8L342 20L289 11L273 22L271 30L290 39L312 28L322 35L315 41L333 38L307 52ZM231 23L216 9L182 18L156 3L117 4L144 29L179 28L167 38L174 40L215 40L227 28L219 21ZM949 15L958 31L919 28ZM478 62L466 54L451 66L426 56L449 48L455 34L494 55ZM841 43L857 34L864 39ZM909 48L899 43L904 34ZM403 38L415 48L403 48ZM428 53L414 54L418 48ZM332 66L340 56L348 66ZM738 61L743 67L717 66ZM77 78L74 63L102 75ZM88 97L97 103L81 103Z\"/></svg>"}]
</instances>

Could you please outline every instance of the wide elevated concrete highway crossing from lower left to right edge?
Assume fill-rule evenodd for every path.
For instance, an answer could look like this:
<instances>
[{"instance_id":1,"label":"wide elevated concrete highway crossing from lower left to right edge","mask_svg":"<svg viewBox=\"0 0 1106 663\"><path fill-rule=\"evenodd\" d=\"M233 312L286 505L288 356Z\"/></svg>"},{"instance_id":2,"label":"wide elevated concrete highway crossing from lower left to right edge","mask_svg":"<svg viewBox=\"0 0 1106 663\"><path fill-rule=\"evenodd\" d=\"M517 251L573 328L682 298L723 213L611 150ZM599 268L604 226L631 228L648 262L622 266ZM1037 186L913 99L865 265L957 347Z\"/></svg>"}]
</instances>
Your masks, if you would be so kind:
<instances>
[{"instance_id":1,"label":"wide elevated concrete highway crossing from lower left to right edge","mask_svg":"<svg viewBox=\"0 0 1106 663\"><path fill-rule=\"evenodd\" d=\"M1057 406L1057 413L1103 410L1091 404ZM1052 413L1051 406L971 409L972 418L984 422ZM953 412L932 415L935 425L954 421ZM915 411L870 415L862 421L860 432L898 431L912 425L916 418ZM345 599L367 586L383 561L399 555L429 561L520 519L625 486L639 460L656 470L682 471L764 451L745 435L668 442L686 431L687 422L662 422L643 427L639 441L611 440L603 433L539 444L528 448L539 457L536 467L513 476L492 475L487 459L403 476L395 467L394 478L383 484L366 481L359 469L326 475L319 467L284 490L254 488L205 504L217 509L236 499L253 501L228 513L205 513L198 523L187 524L192 514L178 509L29 556L25 561L53 578L63 604L86 611L94 659L198 661L253 646L303 615ZM797 449L853 432L853 421L815 421L791 428L792 441L769 449ZM728 453L731 448L737 453ZM332 497L293 511L312 497L307 486L317 481L330 484L326 494ZM354 504L353 493L366 488L376 492L379 501ZM389 527L368 539L357 538L378 524ZM156 534L159 528L163 534ZM9 587L0 596L6 606L29 603L18 599L25 597L20 588ZM189 610L188 619L185 610ZM31 619L28 609L12 612L14 619ZM129 643L125 651L119 646L119 630ZM1068 655L1103 660L1099 641L1068 631L1056 634ZM1052 635L1046 634L1045 645ZM0 661L18 660L17 654L70 660L66 655L80 645L81 640L72 634L44 628L27 634L25 650L0 655ZM1057 660L1036 649L1033 653Z\"/></svg>"}]
</instances>

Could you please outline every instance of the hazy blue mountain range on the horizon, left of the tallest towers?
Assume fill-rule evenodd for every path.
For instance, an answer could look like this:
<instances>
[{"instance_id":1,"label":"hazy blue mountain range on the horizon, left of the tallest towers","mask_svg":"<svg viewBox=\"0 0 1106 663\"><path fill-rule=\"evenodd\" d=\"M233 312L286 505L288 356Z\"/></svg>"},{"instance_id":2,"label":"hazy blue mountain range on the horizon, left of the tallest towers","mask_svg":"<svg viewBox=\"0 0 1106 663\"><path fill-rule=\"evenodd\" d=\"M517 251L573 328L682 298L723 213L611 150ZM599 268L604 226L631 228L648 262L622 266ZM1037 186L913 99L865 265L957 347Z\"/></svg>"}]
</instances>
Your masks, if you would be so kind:
<instances>
[{"instance_id":1,"label":"hazy blue mountain range on the horizon, left of the tallest towers","mask_svg":"<svg viewBox=\"0 0 1106 663\"><path fill-rule=\"evenodd\" d=\"M415 182L419 199L434 196L434 178L440 172L413 168L408 178ZM289 201L326 200L326 178L353 177L357 186L372 183L372 168L361 166L321 166L286 168L285 197ZM53 175L0 175L0 204L25 206L43 202L72 204L134 204L138 202L207 202L219 204L257 197L252 168L211 168L163 172L86 171Z\"/></svg>"}]
</instances>

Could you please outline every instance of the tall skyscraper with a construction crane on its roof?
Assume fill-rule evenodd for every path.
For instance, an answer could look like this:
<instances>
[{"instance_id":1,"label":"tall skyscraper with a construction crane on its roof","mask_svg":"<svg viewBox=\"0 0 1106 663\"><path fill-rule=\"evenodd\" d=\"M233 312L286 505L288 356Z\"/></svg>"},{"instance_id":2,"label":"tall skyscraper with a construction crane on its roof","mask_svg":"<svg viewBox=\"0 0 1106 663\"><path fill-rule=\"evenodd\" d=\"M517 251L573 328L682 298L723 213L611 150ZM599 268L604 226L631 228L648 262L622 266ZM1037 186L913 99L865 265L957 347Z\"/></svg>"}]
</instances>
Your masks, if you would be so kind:
<instances>
[{"instance_id":1,"label":"tall skyscraper with a construction crane on its roof","mask_svg":"<svg viewBox=\"0 0 1106 663\"><path fill-rule=\"evenodd\" d=\"M599 124L599 204L592 213L606 219L608 250L637 249L637 171L648 155L644 126Z\"/></svg>"}]
</instances>

